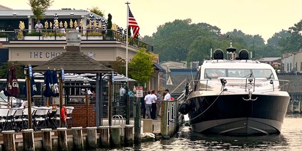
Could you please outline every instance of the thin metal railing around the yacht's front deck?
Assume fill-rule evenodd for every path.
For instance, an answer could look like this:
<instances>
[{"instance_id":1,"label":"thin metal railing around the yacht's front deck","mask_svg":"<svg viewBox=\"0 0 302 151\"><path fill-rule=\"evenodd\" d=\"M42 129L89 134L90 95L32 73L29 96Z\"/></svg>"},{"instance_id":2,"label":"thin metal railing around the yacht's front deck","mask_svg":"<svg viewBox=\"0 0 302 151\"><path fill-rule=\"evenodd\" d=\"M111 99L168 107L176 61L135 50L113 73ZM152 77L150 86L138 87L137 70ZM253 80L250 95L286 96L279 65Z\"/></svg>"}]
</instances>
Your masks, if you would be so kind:
<instances>
[{"instance_id":1,"label":"thin metal railing around the yacht's front deck","mask_svg":"<svg viewBox=\"0 0 302 151\"><path fill-rule=\"evenodd\" d=\"M261 87L263 84L271 85L271 91L286 91L289 88L288 80L273 80L273 79L257 79L257 78L246 78L246 79L204 79L204 80L194 80L190 82L191 89L193 91L213 91L213 84L217 82L221 83L221 90L223 88L228 88L228 86L237 86L245 91L251 90L255 91L255 87ZM263 86L264 87L264 86ZM268 90L265 89L265 90Z\"/></svg>"}]
</instances>

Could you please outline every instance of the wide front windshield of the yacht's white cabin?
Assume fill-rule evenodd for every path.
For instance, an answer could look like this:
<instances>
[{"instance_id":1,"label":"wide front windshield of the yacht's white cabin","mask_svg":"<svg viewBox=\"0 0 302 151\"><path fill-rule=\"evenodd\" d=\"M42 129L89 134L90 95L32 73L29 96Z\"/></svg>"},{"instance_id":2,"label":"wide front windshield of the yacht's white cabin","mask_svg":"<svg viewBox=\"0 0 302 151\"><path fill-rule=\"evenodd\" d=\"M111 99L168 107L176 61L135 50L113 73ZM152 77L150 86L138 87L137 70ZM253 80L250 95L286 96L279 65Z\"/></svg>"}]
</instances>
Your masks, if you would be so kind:
<instances>
[{"instance_id":1,"label":"wide front windshield of the yacht's white cabin","mask_svg":"<svg viewBox=\"0 0 302 151\"><path fill-rule=\"evenodd\" d=\"M204 79L215 79L218 77L274 79L274 75L271 69L205 69Z\"/></svg>"}]
</instances>

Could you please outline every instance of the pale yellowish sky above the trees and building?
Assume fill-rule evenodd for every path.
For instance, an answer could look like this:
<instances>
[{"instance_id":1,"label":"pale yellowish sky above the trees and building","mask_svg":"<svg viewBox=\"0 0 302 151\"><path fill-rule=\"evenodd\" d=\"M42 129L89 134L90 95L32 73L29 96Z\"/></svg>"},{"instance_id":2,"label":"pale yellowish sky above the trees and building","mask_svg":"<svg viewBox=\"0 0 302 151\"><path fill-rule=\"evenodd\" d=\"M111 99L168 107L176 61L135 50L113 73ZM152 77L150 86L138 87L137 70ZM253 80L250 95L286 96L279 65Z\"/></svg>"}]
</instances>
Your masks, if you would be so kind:
<instances>
[{"instance_id":1,"label":"pale yellowish sky above the trees and building","mask_svg":"<svg viewBox=\"0 0 302 151\"><path fill-rule=\"evenodd\" d=\"M30 9L28 0L0 0L12 9ZM50 9L86 10L97 6L112 15L113 23L126 27L126 3L121 0L54 0ZM288 29L302 19L302 1L298 0L129 0L140 35L152 35L157 27L175 19L191 18L205 22L222 33L240 29L246 34L260 34L267 40L275 32ZM181 35L180 35L181 36Z\"/></svg>"}]
</instances>

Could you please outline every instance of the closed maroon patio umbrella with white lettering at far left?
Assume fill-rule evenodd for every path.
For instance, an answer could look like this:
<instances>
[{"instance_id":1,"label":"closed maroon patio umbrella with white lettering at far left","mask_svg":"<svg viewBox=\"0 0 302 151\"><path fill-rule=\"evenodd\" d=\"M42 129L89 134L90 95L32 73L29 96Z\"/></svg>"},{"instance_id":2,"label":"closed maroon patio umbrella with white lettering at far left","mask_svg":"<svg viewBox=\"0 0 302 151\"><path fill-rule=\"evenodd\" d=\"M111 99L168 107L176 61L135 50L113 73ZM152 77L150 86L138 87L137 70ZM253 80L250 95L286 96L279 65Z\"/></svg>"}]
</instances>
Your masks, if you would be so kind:
<instances>
[{"instance_id":1,"label":"closed maroon patio umbrella with white lettering at far left","mask_svg":"<svg viewBox=\"0 0 302 151\"><path fill-rule=\"evenodd\" d=\"M16 76L16 67L13 64L9 71L9 77L6 86L7 93L9 96L17 97L20 93L18 79Z\"/></svg>"}]
</instances>

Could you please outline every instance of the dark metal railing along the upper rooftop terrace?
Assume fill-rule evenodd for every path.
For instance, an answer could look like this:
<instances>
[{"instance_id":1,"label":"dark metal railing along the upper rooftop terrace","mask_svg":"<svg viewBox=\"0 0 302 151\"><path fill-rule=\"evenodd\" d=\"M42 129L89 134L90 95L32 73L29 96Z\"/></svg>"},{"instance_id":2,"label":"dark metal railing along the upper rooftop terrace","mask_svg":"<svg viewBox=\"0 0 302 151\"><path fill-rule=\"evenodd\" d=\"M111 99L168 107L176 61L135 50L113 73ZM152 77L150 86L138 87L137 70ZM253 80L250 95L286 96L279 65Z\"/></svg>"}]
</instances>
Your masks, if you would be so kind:
<instances>
[{"instance_id":1,"label":"dark metal railing along the upper rooftop terrace","mask_svg":"<svg viewBox=\"0 0 302 151\"><path fill-rule=\"evenodd\" d=\"M65 32L69 30L15 30L15 31L1 31L0 42L8 42L12 40L25 40L25 41L40 41L40 40L66 40ZM144 49L146 51L153 51L153 46L142 42L138 39L133 39L123 33L114 30L79 30L83 41L120 41L126 43L128 37L128 44L136 48Z\"/></svg>"}]
</instances>

